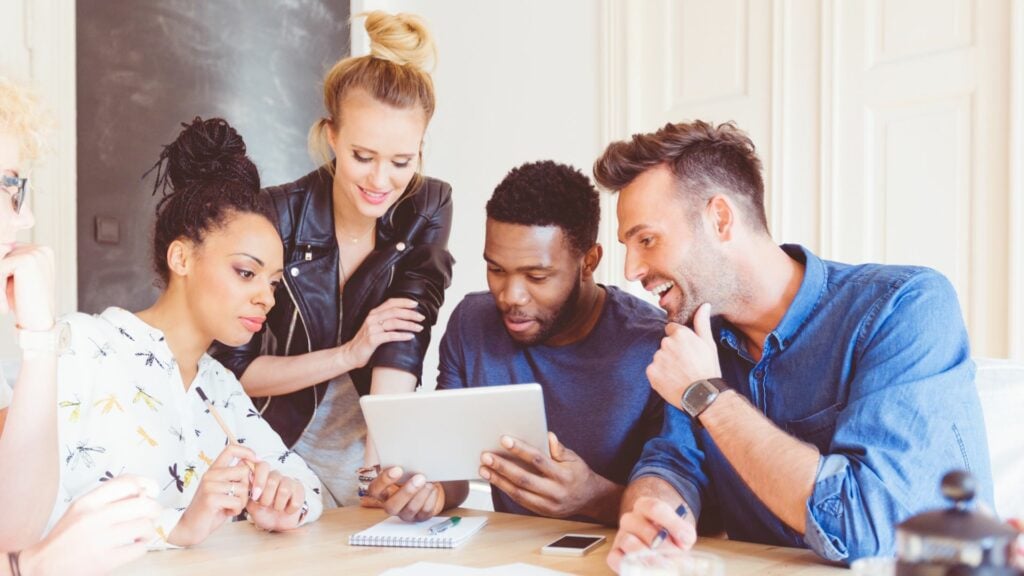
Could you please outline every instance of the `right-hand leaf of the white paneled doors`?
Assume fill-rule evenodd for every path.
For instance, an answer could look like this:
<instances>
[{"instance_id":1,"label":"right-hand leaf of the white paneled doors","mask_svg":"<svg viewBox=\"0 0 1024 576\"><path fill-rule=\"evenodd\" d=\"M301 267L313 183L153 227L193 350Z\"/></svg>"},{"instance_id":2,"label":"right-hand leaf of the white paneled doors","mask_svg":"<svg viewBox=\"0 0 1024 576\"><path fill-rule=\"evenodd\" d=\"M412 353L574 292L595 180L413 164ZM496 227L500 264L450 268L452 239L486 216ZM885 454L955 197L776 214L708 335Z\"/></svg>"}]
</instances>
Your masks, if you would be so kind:
<instances>
[{"instance_id":1,"label":"right-hand leaf of the white paneled doors","mask_svg":"<svg viewBox=\"0 0 1024 576\"><path fill-rule=\"evenodd\" d=\"M1009 3L836 2L826 249L935 268L977 351L1008 353Z\"/></svg>"}]
</instances>

